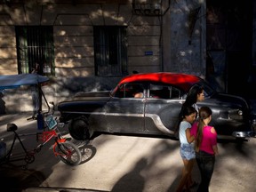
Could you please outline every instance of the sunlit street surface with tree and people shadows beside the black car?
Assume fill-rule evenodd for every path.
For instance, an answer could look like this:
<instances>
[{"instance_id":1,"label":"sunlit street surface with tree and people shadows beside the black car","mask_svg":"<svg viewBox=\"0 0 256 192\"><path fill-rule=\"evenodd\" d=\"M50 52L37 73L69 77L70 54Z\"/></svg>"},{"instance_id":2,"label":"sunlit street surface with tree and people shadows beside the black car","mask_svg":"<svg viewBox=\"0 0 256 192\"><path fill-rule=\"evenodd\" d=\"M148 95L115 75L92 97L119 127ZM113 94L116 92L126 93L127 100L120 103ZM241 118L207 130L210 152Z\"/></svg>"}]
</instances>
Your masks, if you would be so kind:
<instances>
[{"instance_id":1,"label":"sunlit street surface with tree and people shadows beside the black car","mask_svg":"<svg viewBox=\"0 0 256 192\"><path fill-rule=\"evenodd\" d=\"M6 132L7 123L17 124L19 132L36 132L36 122L28 122L28 116L0 116L1 138L10 138L10 132ZM65 129L63 132L67 133L67 127ZM70 136L67 134L67 137ZM24 142L32 145L35 144L33 140L30 138ZM210 191L256 191L255 146L256 139L253 138L244 142L220 140L220 155L216 157ZM51 145L46 145L36 154L36 161L28 164L28 170L4 170L2 167L4 174L0 179L5 181L1 183L7 188L20 186L23 191L35 191L36 187L41 187L42 190L173 192L183 167L179 149L178 140L101 134L88 147L81 147L82 152L85 151L84 160L78 166L64 164L53 155ZM196 165L193 176L197 182L200 181Z\"/></svg>"}]
</instances>

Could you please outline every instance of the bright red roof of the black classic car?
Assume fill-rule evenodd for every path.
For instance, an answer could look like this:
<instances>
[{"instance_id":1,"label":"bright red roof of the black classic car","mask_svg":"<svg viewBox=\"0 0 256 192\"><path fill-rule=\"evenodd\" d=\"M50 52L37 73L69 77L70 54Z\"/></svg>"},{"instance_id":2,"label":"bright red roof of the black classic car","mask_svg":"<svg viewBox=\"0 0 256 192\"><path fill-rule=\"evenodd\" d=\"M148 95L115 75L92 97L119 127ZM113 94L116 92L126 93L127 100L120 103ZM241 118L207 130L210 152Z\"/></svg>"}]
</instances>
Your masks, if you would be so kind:
<instances>
[{"instance_id":1,"label":"bright red roof of the black classic car","mask_svg":"<svg viewBox=\"0 0 256 192\"><path fill-rule=\"evenodd\" d=\"M141 81L174 84L182 88L183 90L188 91L191 85L201 81L201 78L198 76L181 74L181 73L171 73L171 72L134 74L131 76L125 76L119 82L118 85L124 84L124 83L141 82Z\"/></svg>"}]
</instances>

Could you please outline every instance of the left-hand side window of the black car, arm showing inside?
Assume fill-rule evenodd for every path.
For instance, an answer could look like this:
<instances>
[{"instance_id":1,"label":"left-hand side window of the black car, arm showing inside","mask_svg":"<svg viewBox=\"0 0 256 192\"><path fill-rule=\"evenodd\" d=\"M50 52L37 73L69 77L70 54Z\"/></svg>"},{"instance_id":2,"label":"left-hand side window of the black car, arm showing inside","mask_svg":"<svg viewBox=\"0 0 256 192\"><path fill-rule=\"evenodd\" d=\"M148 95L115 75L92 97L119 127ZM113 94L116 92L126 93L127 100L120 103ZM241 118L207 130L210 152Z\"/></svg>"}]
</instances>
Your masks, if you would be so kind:
<instances>
[{"instance_id":1,"label":"left-hand side window of the black car, arm showing inside","mask_svg":"<svg viewBox=\"0 0 256 192\"><path fill-rule=\"evenodd\" d=\"M118 98L136 98L144 97L144 88L142 84L121 84L116 90L115 97Z\"/></svg>"}]
</instances>

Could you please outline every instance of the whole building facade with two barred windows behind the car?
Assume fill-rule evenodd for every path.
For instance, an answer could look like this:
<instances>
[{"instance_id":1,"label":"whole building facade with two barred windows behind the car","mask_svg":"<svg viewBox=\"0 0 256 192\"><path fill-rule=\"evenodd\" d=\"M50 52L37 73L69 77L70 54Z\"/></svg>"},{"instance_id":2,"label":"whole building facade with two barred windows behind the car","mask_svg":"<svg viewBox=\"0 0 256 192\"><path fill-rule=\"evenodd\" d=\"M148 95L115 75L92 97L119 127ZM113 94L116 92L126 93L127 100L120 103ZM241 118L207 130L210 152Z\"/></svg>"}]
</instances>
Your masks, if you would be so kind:
<instances>
[{"instance_id":1,"label":"whole building facade with two barred windows behind the car","mask_svg":"<svg viewBox=\"0 0 256 192\"><path fill-rule=\"evenodd\" d=\"M216 90L228 92L226 59L219 60L227 46L212 46L212 42L220 44L222 38L219 42L209 39L206 30L214 31L218 23L213 19L219 14L212 13L220 9L221 2L214 2L1 1L0 75L30 73L38 63L40 74L51 78L51 83L43 87L46 97L55 102L76 92L111 90L120 78L134 72L210 76ZM206 9L208 6L212 9ZM251 55L246 55L250 57L252 47ZM206 60L213 63L213 74L209 75ZM244 78L247 76L249 73ZM31 110L28 90L4 91L5 111Z\"/></svg>"}]
</instances>

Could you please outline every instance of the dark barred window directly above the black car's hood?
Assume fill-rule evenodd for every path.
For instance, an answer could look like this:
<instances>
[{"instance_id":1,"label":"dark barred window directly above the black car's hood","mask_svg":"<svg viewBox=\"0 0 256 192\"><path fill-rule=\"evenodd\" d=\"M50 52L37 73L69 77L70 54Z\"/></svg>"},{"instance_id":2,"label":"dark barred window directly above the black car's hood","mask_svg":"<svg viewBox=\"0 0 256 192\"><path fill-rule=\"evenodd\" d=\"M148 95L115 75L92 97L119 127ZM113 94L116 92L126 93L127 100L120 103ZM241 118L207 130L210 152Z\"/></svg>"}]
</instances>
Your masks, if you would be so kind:
<instances>
[{"instance_id":1,"label":"dark barred window directly above the black car's hood","mask_svg":"<svg viewBox=\"0 0 256 192\"><path fill-rule=\"evenodd\" d=\"M123 76L127 74L126 27L96 26L94 58L96 76Z\"/></svg>"}]
</instances>

